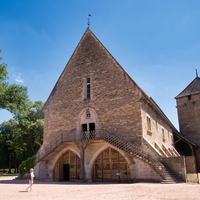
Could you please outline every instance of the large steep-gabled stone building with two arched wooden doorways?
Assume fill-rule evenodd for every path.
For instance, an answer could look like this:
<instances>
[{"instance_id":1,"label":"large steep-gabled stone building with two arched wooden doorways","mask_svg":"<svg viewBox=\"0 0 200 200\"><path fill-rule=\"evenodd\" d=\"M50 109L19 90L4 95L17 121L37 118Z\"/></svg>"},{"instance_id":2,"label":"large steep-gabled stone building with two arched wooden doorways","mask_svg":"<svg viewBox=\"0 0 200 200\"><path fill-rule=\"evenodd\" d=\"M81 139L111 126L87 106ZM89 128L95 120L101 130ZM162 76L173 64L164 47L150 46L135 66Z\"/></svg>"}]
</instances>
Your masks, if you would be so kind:
<instances>
[{"instance_id":1,"label":"large steep-gabled stone building with two arched wooden doorways","mask_svg":"<svg viewBox=\"0 0 200 200\"><path fill-rule=\"evenodd\" d=\"M39 179L160 182L167 168L185 179L174 148L178 131L89 28L43 112L34 167Z\"/></svg>"}]
</instances>

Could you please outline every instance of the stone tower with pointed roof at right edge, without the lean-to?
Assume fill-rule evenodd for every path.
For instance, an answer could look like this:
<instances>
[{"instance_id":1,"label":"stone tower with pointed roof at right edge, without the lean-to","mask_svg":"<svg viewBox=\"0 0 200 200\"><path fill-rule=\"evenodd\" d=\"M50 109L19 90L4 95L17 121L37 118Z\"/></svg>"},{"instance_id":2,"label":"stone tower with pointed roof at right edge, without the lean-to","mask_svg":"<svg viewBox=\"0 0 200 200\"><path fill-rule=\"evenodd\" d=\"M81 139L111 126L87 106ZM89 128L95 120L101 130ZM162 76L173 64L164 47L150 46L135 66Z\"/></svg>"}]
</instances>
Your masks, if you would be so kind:
<instances>
[{"instance_id":1,"label":"stone tower with pointed roof at right edge, without the lean-to","mask_svg":"<svg viewBox=\"0 0 200 200\"><path fill-rule=\"evenodd\" d=\"M180 134L200 146L200 78L196 78L175 97ZM197 169L200 171L200 149L196 151Z\"/></svg>"}]
</instances>

